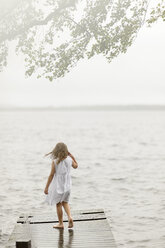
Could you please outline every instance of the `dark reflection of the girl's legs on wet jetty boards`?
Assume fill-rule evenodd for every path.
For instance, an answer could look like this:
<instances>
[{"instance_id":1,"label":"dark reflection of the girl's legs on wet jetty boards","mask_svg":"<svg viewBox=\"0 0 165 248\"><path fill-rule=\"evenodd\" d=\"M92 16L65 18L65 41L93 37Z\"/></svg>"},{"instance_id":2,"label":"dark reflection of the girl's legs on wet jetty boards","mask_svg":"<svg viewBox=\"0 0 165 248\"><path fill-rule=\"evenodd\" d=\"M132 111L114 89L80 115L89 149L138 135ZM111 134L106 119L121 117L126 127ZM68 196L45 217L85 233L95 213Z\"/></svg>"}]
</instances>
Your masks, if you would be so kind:
<instances>
[{"instance_id":1,"label":"dark reflection of the girl's legs on wet jetty boards","mask_svg":"<svg viewBox=\"0 0 165 248\"><path fill-rule=\"evenodd\" d=\"M73 241L73 234L74 234L73 229L68 229L69 238L67 244L65 244L64 242L64 229L58 229L58 231L59 231L58 248L64 248L64 247L71 248Z\"/></svg>"}]
</instances>

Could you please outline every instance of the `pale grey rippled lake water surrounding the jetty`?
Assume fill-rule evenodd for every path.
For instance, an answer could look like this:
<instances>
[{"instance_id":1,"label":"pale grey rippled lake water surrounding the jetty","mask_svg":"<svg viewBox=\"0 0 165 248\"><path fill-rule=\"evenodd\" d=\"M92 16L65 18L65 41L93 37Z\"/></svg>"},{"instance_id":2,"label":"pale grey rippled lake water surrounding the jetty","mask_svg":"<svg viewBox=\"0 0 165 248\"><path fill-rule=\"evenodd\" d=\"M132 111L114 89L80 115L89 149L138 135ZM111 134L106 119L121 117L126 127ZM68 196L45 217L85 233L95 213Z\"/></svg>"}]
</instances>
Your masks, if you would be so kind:
<instances>
[{"instance_id":1,"label":"pale grey rippled lake water surrounding the jetty","mask_svg":"<svg viewBox=\"0 0 165 248\"><path fill-rule=\"evenodd\" d=\"M43 204L50 160L63 141L75 155L73 209L104 208L119 248L165 247L165 112L0 112L0 247L20 213Z\"/></svg>"}]
</instances>

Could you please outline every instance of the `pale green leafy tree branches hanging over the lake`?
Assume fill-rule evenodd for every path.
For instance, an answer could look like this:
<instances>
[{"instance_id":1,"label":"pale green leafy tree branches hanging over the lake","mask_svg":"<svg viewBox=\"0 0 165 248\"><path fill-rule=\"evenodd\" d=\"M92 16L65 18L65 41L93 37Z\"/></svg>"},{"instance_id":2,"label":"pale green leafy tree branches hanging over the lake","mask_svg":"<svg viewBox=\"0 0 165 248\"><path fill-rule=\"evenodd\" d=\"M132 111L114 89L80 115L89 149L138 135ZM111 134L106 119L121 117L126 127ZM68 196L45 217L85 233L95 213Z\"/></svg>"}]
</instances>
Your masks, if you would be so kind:
<instances>
[{"instance_id":1,"label":"pale green leafy tree branches hanging over the lake","mask_svg":"<svg viewBox=\"0 0 165 248\"><path fill-rule=\"evenodd\" d=\"M26 75L50 81L65 76L78 61L102 54L111 62L125 53L144 24L147 0L3 0L0 14L0 70L8 46L17 41ZM152 20L158 18L158 9ZM2 13L2 12L1 12ZM161 12L162 13L162 12ZM164 12L163 12L164 13Z\"/></svg>"}]
</instances>

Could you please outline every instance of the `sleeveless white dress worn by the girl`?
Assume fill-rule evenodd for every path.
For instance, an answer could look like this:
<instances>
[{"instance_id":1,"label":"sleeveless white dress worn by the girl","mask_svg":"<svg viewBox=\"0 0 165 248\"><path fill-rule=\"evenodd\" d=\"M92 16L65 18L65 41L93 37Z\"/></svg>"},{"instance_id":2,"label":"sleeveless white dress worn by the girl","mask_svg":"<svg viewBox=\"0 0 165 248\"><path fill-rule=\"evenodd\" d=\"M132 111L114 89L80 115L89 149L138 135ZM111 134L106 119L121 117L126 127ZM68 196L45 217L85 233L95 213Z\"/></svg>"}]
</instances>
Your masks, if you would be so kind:
<instances>
[{"instance_id":1,"label":"sleeveless white dress worn by the girl","mask_svg":"<svg viewBox=\"0 0 165 248\"><path fill-rule=\"evenodd\" d=\"M46 195L45 202L49 205L54 205L59 202L68 202L71 192L71 175L70 169L72 166L72 159L67 156L59 164L55 164L55 174L48 188L48 194Z\"/></svg>"}]
</instances>

